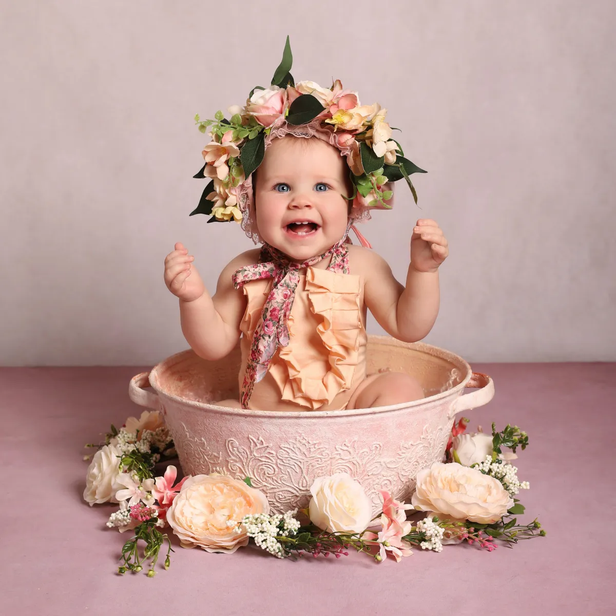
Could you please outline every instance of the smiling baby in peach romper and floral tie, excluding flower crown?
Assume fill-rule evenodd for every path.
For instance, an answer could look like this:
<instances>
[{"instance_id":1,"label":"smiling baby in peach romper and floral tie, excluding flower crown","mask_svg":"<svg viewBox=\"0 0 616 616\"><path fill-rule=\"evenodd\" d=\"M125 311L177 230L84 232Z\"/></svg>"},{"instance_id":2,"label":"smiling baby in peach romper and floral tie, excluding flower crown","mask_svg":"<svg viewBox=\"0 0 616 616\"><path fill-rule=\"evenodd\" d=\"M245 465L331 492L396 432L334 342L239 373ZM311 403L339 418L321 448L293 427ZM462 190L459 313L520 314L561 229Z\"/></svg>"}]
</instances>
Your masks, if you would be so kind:
<instances>
[{"instance_id":1,"label":"smiling baby in peach romper and floral tie, excluding flower crown","mask_svg":"<svg viewBox=\"0 0 616 616\"><path fill-rule=\"evenodd\" d=\"M367 376L366 311L394 338L424 338L439 310L447 240L435 221L417 221L402 286L382 257L345 243L352 188L339 148L315 137L272 139L252 174L252 216L264 248L235 257L214 296L181 243L166 257L164 280L197 355L220 359L241 336L240 400L218 405L341 410L424 397L410 375Z\"/></svg>"}]
</instances>

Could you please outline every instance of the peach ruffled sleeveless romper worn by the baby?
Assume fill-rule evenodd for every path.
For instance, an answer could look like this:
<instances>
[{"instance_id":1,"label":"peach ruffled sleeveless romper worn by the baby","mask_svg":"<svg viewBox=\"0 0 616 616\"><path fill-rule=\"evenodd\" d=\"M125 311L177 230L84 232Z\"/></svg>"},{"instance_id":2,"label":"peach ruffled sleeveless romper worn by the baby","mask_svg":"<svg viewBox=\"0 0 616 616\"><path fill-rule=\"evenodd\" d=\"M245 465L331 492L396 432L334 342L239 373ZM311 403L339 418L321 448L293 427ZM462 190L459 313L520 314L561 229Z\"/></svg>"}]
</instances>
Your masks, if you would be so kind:
<instances>
[{"instance_id":1,"label":"peach ruffled sleeveless romper worn by the baby","mask_svg":"<svg viewBox=\"0 0 616 616\"><path fill-rule=\"evenodd\" d=\"M240 389L254 329L272 279L243 286ZM341 410L366 377L367 334L362 323L359 275L307 267L288 318L289 344L278 347L265 376L254 385L253 410Z\"/></svg>"}]
</instances>

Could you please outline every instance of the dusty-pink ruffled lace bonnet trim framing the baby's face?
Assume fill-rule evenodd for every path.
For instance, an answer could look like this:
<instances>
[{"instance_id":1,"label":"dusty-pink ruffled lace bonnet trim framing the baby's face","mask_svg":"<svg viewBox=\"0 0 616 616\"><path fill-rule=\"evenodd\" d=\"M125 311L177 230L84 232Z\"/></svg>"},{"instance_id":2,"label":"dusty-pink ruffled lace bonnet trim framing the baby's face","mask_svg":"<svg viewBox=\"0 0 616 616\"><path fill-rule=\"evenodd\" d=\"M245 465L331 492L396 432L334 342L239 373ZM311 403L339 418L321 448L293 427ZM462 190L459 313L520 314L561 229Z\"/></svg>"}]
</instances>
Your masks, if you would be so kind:
<instances>
[{"instance_id":1,"label":"dusty-pink ruffled lace bonnet trim framing the baby's face","mask_svg":"<svg viewBox=\"0 0 616 616\"><path fill-rule=\"evenodd\" d=\"M326 143L333 145L340 150L341 156L347 156L351 153L350 147L345 147L338 142L338 133L334 132L333 128L324 128L320 124L320 120L312 120L308 124L300 124L296 126L294 124L286 123L284 118L278 118L272 124L269 135L265 136L265 150L270 146L272 140L282 139L285 135L293 135L294 137L304 137L310 139L311 137L317 137ZM387 182L385 190L394 190L393 182ZM257 230L256 218L254 214L254 199L253 199L253 174L250 174L244 182L238 187L237 192L238 206L242 213L241 228L246 235L253 240L255 244L262 243L261 235ZM387 201L388 205L394 205L394 197ZM353 220L353 224L356 222L367 222L370 220L371 209L385 209L381 206L368 206L367 200L357 193L357 197L353 201L353 209L351 211L350 218ZM355 231L357 233L357 231ZM360 237L360 233L357 233L359 240L362 241L363 237Z\"/></svg>"}]
</instances>

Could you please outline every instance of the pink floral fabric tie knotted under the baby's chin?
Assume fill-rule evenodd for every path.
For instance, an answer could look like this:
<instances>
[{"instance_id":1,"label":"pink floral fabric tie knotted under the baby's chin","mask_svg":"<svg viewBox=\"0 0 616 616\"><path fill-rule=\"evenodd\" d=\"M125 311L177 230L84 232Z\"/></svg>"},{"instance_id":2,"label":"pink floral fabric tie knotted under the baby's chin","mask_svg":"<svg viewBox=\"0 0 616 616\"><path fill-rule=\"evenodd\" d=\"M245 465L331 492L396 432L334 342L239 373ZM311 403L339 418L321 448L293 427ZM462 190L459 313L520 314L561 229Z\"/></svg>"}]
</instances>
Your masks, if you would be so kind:
<instances>
[{"instance_id":1,"label":"pink floral fabric tie knotted under the baby's chin","mask_svg":"<svg viewBox=\"0 0 616 616\"><path fill-rule=\"evenodd\" d=\"M349 251L344 245L346 233L342 239L326 253L312 257L303 263L296 263L277 248L264 244L259 263L246 265L233 274L233 286L239 289L251 280L273 278L270 291L261 318L254 329L253 344L246 360L246 372L241 386L241 408L248 408L248 400L253 393L254 384L261 381L267 373L270 361L278 345L289 344L287 321L293 307L295 290L299 283L299 270L314 265L331 255L327 269L333 272L349 274Z\"/></svg>"}]
</instances>

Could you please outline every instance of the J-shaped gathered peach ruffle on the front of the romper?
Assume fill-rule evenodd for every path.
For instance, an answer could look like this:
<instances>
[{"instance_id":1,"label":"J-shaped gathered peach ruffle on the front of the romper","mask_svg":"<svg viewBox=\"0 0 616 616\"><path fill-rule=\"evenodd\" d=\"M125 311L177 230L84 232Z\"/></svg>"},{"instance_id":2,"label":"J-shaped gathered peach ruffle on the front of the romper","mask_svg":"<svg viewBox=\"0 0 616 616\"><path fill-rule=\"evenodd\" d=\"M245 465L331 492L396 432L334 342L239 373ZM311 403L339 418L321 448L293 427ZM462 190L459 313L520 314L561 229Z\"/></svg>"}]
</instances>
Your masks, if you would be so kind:
<instances>
[{"instance_id":1,"label":"J-shaped gathered peach ruffle on the front of the romper","mask_svg":"<svg viewBox=\"0 0 616 616\"><path fill-rule=\"evenodd\" d=\"M298 361L301 348L293 344L291 314L288 320L290 342L288 346L280 347L278 356L282 362L272 362L270 374L280 387L283 400L315 410L331 403L341 391L351 388L359 361L362 328L360 277L309 267L306 270L306 291L310 310L323 319L317 326L317 333L328 352L329 369L320 379L307 376L302 370L302 362Z\"/></svg>"}]
</instances>

